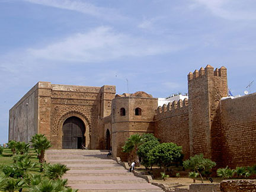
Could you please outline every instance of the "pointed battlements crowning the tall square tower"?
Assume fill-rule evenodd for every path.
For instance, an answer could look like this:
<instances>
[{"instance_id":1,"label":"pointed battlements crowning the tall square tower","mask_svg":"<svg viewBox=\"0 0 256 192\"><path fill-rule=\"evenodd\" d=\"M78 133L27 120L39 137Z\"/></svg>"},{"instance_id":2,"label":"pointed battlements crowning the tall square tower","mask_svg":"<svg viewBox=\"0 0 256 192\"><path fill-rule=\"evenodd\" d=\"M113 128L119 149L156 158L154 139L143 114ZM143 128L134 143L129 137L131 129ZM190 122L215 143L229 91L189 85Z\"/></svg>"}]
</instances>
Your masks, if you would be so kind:
<instances>
[{"instance_id":1,"label":"pointed battlements crowning the tall square tower","mask_svg":"<svg viewBox=\"0 0 256 192\"><path fill-rule=\"evenodd\" d=\"M227 70L225 66L222 66L221 68L216 68L214 71L214 68L210 65L207 65L205 68L200 68L199 71L196 69L193 73L188 73L188 81L192 81L193 79L201 78L203 76L220 76L225 77L227 76Z\"/></svg>"}]
</instances>

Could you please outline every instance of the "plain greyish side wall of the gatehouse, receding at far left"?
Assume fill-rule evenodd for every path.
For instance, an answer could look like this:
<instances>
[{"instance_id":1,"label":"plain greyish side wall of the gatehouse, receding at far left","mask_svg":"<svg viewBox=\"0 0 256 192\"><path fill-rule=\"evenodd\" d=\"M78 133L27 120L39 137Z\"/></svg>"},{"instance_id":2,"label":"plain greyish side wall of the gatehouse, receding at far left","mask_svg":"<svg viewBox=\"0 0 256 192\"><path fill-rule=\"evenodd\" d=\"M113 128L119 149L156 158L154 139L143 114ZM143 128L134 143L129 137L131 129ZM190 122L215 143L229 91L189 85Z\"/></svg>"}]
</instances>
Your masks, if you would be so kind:
<instances>
[{"instance_id":1,"label":"plain greyish side wall of the gatehouse, receding at far left","mask_svg":"<svg viewBox=\"0 0 256 192\"><path fill-rule=\"evenodd\" d=\"M36 84L9 110L9 140L29 142L38 132L38 88Z\"/></svg>"}]
</instances>

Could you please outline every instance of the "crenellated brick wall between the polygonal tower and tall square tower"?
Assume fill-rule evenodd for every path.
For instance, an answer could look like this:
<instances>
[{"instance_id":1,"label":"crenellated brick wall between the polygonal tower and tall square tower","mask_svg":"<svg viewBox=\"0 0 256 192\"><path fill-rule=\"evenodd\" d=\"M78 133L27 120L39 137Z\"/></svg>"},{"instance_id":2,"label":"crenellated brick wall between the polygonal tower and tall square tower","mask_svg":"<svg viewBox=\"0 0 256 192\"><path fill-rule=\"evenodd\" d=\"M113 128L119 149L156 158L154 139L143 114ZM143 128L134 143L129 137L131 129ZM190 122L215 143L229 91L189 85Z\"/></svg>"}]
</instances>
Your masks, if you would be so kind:
<instances>
[{"instance_id":1,"label":"crenellated brick wall between the polygonal tower and tall square tower","mask_svg":"<svg viewBox=\"0 0 256 192\"><path fill-rule=\"evenodd\" d=\"M190 156L188 100L173 101L158 107L155 115L155 136L160 142L173 142L183 147L184 159Z\"/></svg>"}]
</instances>

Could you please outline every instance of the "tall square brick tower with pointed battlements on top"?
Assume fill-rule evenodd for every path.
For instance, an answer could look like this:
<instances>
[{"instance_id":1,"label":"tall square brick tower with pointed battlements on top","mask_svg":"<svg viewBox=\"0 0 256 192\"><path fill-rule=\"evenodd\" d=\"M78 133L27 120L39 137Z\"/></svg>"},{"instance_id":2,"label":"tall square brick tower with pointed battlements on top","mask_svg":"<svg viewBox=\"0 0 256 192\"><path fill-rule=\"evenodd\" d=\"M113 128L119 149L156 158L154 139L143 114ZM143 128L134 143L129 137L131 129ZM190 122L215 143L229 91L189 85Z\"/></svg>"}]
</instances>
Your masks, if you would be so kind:
<instances>
[{"instance_id":1,"label":"tall square brick tower with pointed battlements on top","mask_svg":"<svg viewBox=\"0 0 256 192\"><path fill-rule=\"evenodd\" d=\"M227 71L207 65L188 73L190 155L203 153L215 160L220 154L219 101L228 96Z\"/></svg>"}]
</instances>

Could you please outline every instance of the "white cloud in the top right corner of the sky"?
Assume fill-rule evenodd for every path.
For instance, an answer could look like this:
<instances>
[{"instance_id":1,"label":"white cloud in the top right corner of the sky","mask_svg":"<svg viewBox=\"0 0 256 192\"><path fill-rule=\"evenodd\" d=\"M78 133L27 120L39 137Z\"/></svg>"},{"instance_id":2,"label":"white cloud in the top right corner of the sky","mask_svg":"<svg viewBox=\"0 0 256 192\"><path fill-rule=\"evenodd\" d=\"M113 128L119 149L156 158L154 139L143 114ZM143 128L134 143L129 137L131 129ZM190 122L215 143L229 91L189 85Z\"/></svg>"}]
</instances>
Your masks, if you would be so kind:
<instances>
[{"instance_id":1,"label":"white cloud in the top right corner of the sky","mask_svg":"<svg viewBox=\"0 0 256 192\"><path fill-rule=\"evenodd\" d=\"M255 20L256 13L254 2L250 0L194 0L191 8L203 5L213 14L228 20Z\"/></svg>"}]
</instances>

